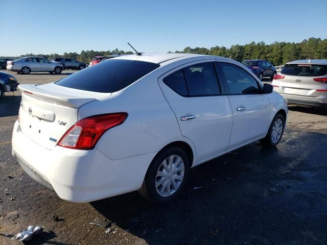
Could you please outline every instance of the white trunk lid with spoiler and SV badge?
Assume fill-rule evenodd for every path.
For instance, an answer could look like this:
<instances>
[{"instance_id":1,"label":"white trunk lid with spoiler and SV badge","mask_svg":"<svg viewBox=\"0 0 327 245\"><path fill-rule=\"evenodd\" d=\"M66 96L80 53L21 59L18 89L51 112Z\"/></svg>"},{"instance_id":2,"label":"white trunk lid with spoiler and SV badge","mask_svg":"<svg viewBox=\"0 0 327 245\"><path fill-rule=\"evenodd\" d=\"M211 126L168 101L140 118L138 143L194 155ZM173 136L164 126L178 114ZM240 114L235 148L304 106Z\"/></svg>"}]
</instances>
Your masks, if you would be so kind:
<instances>
[{"instance_id":1,"label":"white trunk lid with spoiler and SV badge","mask_svg":"<svg viewBox=\"0 0 327 245\"><path fill-rule=\"evenodd\" d=\"M53 149L62 135L78 121L78 108L110 96L65 88L55 84L19 85L21 131L46 149Z\"/></svg>"}]
</instances>

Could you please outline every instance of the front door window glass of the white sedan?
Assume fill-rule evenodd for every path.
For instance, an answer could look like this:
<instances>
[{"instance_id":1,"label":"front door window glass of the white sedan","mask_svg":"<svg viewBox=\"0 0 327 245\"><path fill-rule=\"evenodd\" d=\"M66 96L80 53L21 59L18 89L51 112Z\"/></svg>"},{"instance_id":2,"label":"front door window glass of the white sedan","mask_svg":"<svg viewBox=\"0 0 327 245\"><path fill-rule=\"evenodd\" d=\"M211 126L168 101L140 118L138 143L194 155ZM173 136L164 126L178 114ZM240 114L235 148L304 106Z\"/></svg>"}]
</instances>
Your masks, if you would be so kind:
<instances>
[{"instance_id":1,"label":"front door window glass of the white sedan","mask_svg":"<svg viewBox=\"0 0 327 245\"><path fill-rule=\"evenodd\" d=\"M258 83L243 68L229 64L220 63L224 72L230 94L258 93Z\"/></svg>"}]
</instances>

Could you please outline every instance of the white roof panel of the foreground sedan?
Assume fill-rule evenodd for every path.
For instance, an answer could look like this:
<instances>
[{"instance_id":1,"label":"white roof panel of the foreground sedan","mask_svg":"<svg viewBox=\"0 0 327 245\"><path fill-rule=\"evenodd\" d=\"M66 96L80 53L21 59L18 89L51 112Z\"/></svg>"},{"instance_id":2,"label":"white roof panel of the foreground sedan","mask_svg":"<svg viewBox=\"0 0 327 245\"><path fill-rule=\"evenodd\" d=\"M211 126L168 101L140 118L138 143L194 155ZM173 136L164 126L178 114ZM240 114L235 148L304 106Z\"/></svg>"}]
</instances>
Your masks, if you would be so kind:
<instances>
[{"instance_id":1,"label":"white roof panel of the foreground sedan","mask_svg":"<svg viewBox=\"0 0 327 245\"><path fill-rule=\"evenodd\" d=\"M218 56L209 56L209 55L196 55L196 54L184 54L184 53L177 53L177 54L142 54L142 55L124 55L115 57L114 59L124 59L124 60L139 60L139 61L147 61L152 63L164 63L166 61L174 61L176 59L187 59L191 57L204 57L206 59L212 58L212 59L228 59ZM229 60L229 59L228 59Z\"/></svg>"}]
</instances>

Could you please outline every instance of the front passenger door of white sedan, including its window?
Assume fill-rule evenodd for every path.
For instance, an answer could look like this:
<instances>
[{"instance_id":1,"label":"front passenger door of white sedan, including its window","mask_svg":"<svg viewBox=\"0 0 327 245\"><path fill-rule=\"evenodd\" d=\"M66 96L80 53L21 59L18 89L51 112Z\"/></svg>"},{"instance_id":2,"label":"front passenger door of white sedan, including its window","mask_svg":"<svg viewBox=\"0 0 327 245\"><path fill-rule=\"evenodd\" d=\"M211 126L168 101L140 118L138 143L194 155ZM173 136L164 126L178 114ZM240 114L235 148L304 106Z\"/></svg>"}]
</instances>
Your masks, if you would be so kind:
<instances>
[{"instance_id":1,"label":"front passenger door of white sedan, including its window","mask_svg":"<svg viewBox=\"0 0 327 245\"><path fill-rule=\"evenodd\" d=\"M233 113L228 149L233 149L266 134L270 101L261 93L259 82L243 67L219 62L224 86Z\"/></svg>"}]
</instances>

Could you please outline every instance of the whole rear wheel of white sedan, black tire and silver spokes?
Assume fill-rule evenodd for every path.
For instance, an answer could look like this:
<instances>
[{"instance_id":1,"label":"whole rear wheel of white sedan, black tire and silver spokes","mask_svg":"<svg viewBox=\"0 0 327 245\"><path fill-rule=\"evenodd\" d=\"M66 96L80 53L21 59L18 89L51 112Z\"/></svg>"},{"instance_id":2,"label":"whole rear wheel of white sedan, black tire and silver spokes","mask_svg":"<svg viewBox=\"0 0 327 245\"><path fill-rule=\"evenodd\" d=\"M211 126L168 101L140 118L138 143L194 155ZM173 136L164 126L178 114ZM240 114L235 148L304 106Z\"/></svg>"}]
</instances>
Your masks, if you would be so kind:
<instances>
[{"instance_id":1,"label":"whole rear wheel of white sedan, black tire and silver spokes","mask_svg":"<svg viewBox=\"0 0 327 245\"><path fill-rule=\"evenodd\" d=\"M164 162L166 163L166 167L164 166ZM167 169L171 169L172 171L167 171ZM176 169L179 170L177 171ZM171 146L158 153L152 160L138 192L143 198L154 204L161 205L170 202L183 189L189 175L189 169L188 155L180 148ZM159 172L160 175L158 176ZM162 189L164 190L161 191ZM159 192L162 193L160 194Z\"/></svg>"}]
</instances>

